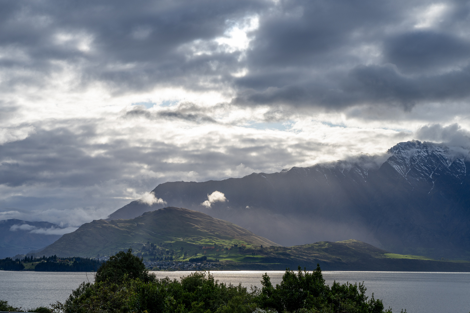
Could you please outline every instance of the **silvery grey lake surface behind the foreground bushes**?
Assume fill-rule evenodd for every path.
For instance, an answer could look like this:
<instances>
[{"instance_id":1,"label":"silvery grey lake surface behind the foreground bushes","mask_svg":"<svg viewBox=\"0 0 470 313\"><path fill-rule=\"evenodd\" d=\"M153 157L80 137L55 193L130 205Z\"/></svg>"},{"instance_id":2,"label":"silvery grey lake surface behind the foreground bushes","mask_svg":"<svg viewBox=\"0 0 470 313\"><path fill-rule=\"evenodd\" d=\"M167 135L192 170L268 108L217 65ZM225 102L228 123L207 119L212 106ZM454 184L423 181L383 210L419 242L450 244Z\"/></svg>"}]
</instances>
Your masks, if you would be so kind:
<instances>
[{"instance_id":1,"label":"silvery grey lake surface behind the foreground bushes","mask_svg":"<svg viewBox=\"0 0 470 313\"><path fill-rule=\"evenodd\" d=\"M154 272L157 277L179 279L189 272ZM213 272L219 282L261 287L264 271ZM267 272L273 284L282 280L283 271ZM88 275L88 276L87 276ZM93 281L93 274L57 272L0 271L0 300L24 308L63 302L78 285ZM408 313L469 313L470 273L436 272L323 272L327 284L334 280L362 282L368 296L374 292L376 299L384 300L385 307L393 313L407 309Z\"/></svg>"}]
</instances>

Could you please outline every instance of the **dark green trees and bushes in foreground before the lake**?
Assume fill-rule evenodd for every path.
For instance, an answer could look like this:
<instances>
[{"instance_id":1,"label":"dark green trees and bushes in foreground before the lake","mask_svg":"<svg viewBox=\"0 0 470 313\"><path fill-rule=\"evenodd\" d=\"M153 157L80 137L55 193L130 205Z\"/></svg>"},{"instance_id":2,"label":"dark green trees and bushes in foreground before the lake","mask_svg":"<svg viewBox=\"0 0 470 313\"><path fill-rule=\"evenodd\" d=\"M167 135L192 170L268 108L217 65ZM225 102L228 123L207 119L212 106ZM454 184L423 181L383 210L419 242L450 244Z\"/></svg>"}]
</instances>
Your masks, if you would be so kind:
<instances>
[{"instance_id":1,"label":"dark green trees and bushes in foreground before the lake","mask_svg":"<svg viewBox=\"0 0 470 313\"><path fill-rule=\"evenodd\" d=\"M102 265L95 282L83 282L55 313L391 313L381 300L368 299L363 284L331 287L318 266L309 273L286 270L273 286L262 276L261 289L219 283L212 275L195 272L180 281L149 274L132 250L119 252Z\"/></svg>"}]
</instances>

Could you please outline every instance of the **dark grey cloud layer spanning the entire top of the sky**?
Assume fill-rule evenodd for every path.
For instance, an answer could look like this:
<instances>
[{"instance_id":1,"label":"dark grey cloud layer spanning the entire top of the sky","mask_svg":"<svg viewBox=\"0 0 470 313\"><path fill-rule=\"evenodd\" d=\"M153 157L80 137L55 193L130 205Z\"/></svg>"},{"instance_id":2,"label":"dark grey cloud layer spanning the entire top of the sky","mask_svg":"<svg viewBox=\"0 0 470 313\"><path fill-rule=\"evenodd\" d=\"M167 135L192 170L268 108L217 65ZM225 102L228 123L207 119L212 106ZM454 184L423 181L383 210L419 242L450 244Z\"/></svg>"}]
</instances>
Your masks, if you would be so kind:
<instances>
[{"instance_id":1,"label":"dark grey cloud layer spanning the entire top of the sky","mask_svg":"<svg viewBox=\"0 0 470 313\"><path fill-rule=\"evenodd\" d=\"M0 67L12 75L0 88L41 86L63 61L79 74L76 87L104 82L115 93L156 86L235 88L238 105L409 109L466 99L469 7L441 2L445 12L424 25L420 19L433 4L7 1L0 10ZM224 50L213 40L254 15L259 27L249 33L245 52ZM246 76L230 75L243 68Z\"/></svg>"}]
</instances>

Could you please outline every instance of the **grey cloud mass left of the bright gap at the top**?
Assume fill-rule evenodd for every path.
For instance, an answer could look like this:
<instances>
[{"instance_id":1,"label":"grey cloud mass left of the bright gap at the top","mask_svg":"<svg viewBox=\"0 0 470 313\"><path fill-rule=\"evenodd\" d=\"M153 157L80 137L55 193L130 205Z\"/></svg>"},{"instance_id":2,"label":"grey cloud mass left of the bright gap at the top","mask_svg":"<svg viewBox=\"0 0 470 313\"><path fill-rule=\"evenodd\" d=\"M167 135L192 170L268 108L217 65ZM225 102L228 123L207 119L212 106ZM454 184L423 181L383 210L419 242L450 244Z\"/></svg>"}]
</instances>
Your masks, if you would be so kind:
<instances>
[{"instance_id":1,"label":"grey cloud mass left of the bright gap at the top","mask_svg":"<svg viewBox=\"0 0 470 313\"><path fill-rule=\"evenodd\" d=\"M7 1L1 6L0 46L10 53L1 59L1 67L27 66L50 75L57 70L53 62L66 61L78 66L80 83L104 81L125 91L171 82L197 88L200 84L191 81L196 80L191 75L212 75L208 61L232 67L239 53L188 61L181 45L223 35L227 20L257 12L266 2L46 0ZM3 86L35 79L40 84L39 77L18 74Z\"/></svg>"}]
</instances>

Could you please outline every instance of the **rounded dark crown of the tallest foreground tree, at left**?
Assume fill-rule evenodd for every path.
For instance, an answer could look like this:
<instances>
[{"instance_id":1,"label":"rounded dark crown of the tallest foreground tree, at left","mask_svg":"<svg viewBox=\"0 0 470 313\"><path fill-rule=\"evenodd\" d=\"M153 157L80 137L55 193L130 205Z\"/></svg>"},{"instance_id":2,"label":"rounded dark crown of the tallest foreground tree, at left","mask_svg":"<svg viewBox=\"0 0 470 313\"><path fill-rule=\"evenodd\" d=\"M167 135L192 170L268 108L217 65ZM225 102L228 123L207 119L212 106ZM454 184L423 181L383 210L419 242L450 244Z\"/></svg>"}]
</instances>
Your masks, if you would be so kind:
<instances>
[{"instance_id":1,"label":"rounded dark crown of the tallest foreground tree, at left","mask_svg":"<svg viewBox=\"0 0 470 313\"><path fill-rule=\"evenodd\" d=\"M143 282L149 282L154 276L149 275L149 271L145 269L142 259L132 254L132 249L127 252L120 251L116 255L110 257L96 272L95 282L105 282L110 280L121 283L124 276L128 279L140 279Z\"/></svg>"}]
</instances>

